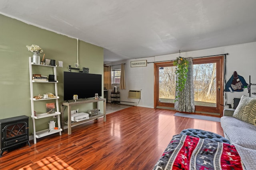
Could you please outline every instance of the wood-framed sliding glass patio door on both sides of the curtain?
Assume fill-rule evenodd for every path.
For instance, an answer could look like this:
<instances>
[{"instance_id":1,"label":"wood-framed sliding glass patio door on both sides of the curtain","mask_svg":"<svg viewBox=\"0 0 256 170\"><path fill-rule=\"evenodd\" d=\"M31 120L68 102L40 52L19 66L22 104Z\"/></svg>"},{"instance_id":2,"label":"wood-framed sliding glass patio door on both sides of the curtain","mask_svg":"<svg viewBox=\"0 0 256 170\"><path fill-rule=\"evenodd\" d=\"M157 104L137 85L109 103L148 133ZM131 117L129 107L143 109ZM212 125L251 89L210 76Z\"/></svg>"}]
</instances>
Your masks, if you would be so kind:
<instances>
[{"instance_id":1,"label":"wood-framed sliding glass patio door on both sides of the curtain","mask_svg":"<svg viewBox=\"0 0 256 170\"><path fill-rule=\"evenodd\" d=\"M194 97L197 112L222 113L223 56L193 59ZM174 107L175 66L155 63L155 107Z\"/></svg>"}]
</instances>

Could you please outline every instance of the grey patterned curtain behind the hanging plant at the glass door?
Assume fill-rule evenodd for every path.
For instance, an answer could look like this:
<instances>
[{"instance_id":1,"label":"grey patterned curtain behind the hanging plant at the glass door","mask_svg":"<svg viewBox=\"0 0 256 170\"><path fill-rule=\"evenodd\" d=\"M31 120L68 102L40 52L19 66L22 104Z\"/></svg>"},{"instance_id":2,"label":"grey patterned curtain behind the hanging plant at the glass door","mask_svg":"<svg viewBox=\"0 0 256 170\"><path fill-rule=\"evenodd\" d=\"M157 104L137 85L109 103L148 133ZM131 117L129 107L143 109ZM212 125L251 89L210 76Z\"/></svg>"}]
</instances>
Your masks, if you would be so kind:
<instances>
[{"instance_id":1,"label":"grey patterned curtain behind the hanging plant at the glass door","mask_svg":"<svg viewBox=\"0 0 256 170\"><path fill-rule=\"evenodd\" d=\"M174 109L177 111L184 112L194 112L195 111L195 101L194 101L194 83L193 83L193 62L192 57L187 58L188 73L187 80L184 89L181 92L178 101L174 102ZM175 96L178 96L175 92Z\"/></svg>"}]
</instances>

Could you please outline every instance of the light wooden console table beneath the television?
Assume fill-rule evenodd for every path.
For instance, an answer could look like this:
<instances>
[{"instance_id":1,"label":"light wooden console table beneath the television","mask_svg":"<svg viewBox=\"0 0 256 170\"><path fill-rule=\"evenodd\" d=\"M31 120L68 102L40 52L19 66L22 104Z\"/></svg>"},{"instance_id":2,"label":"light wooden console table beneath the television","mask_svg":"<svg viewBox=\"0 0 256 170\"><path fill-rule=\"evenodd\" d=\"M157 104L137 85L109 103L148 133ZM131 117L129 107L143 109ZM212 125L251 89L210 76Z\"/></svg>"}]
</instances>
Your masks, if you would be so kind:
<instances>
[{"instance_id":1,"label":"light wooden console table beneath the television","mask_svg":"<svg viewBox=\"0 0 256 170\"><path fill-rule=\"evenodd\" d=\"M86 119L84 121L78 121L78 122L72 122L71 123L71 107L76 106L76 105L81 105L81 104L88 104L88 103L94 103L97 102L97 109L99 109L99 102L103 101L104 102L104 109L103 113L98 113L98 115L93 115L90 116L89 119ZM62 102L61 105L61 120L62 120L62 128L64 126L64 106L68 106L68 135L71 134L71 127L74 127L76 125L80 125L82 123L86 123L88 121L92 121L95 119L99 119L100 117L104 117L104 121L106 121L106 99L87 99L87 100L78 100L77 102Z\"/></svg>"}]
</instances>

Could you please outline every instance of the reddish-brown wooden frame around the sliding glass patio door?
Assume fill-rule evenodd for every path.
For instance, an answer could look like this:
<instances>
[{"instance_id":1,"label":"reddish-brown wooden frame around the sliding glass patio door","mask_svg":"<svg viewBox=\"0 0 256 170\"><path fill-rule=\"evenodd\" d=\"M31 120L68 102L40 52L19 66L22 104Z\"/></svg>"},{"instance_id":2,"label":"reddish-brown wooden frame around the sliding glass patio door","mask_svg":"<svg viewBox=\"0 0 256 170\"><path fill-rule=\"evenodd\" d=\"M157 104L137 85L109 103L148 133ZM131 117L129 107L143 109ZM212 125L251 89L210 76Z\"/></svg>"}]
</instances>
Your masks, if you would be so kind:
<instances>
[{"instance_id":1,"label":"reddish-brown wooden frame around the sliding glass patio door","mask_svg":"<svg viewBox=\"0 0 256 170\"><path fill-rule=\"evenodd\" d=\"M218 113L220 116L223 115L223 104L224 104L224 56L220 55L220 56L216 56L216 57L205 57L205 58L198 58L198 59L192 59L193 60L193 64L200 64L200 63L205 63L205 61L207 61L207 63L216 63L216 61L219 61L216 63L216 68L220 68L220 72L217 75L217 71L216 71L216 80L220 80L220 91L218 91L216 89L216 99L220 99L219 101L216 101L216 106L218 105L218 107L205 107L205 106L196 106L195 111L197 112L209 112L209 108L210 111L212 111L212 113ZM159 86L159 75L156 75L157 73L159 73L159 67L160 66L164 66L164 65L172 65L173 61L170 62L162 62L162 63L154 63L154 108L157 107L157 99L159 97L159 92L157 87ZM218 87L218 82L216 82L216 88ZM158 97L157 97L158 96ZM168 106L166 106L166 104L162 103L161 107L174 107L174 104L168 104Z\"/></svg>"}]
</instances>

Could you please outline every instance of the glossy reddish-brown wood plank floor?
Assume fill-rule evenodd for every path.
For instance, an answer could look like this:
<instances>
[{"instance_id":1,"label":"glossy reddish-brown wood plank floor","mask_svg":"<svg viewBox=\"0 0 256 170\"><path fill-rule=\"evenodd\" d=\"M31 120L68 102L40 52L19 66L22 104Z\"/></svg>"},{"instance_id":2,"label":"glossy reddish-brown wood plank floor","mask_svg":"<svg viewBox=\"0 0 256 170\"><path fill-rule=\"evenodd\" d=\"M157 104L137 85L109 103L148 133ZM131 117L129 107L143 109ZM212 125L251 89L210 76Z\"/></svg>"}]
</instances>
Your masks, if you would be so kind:
<instances>
[{"instance_id":1,"label":"glossy reddish-brown wood plank floor","mask_svg":"<svg viewBox=\"0 0 256 170\"><path fill-rule=\"evenodd\" d=\"M178 117L175 112L129 107L108 114L106 122L100 118L98 122L73 127L71 135L66 129L61 136L57 133L40 138L31 147L5 151L0 169L16 170L31 164L24 169L51 165L56 169L150 170L172 136L183 129L202 129L223 136L219 122ZM58 158L58 164L50 164L46 157Z\"/></svg>"}]
</instances>

